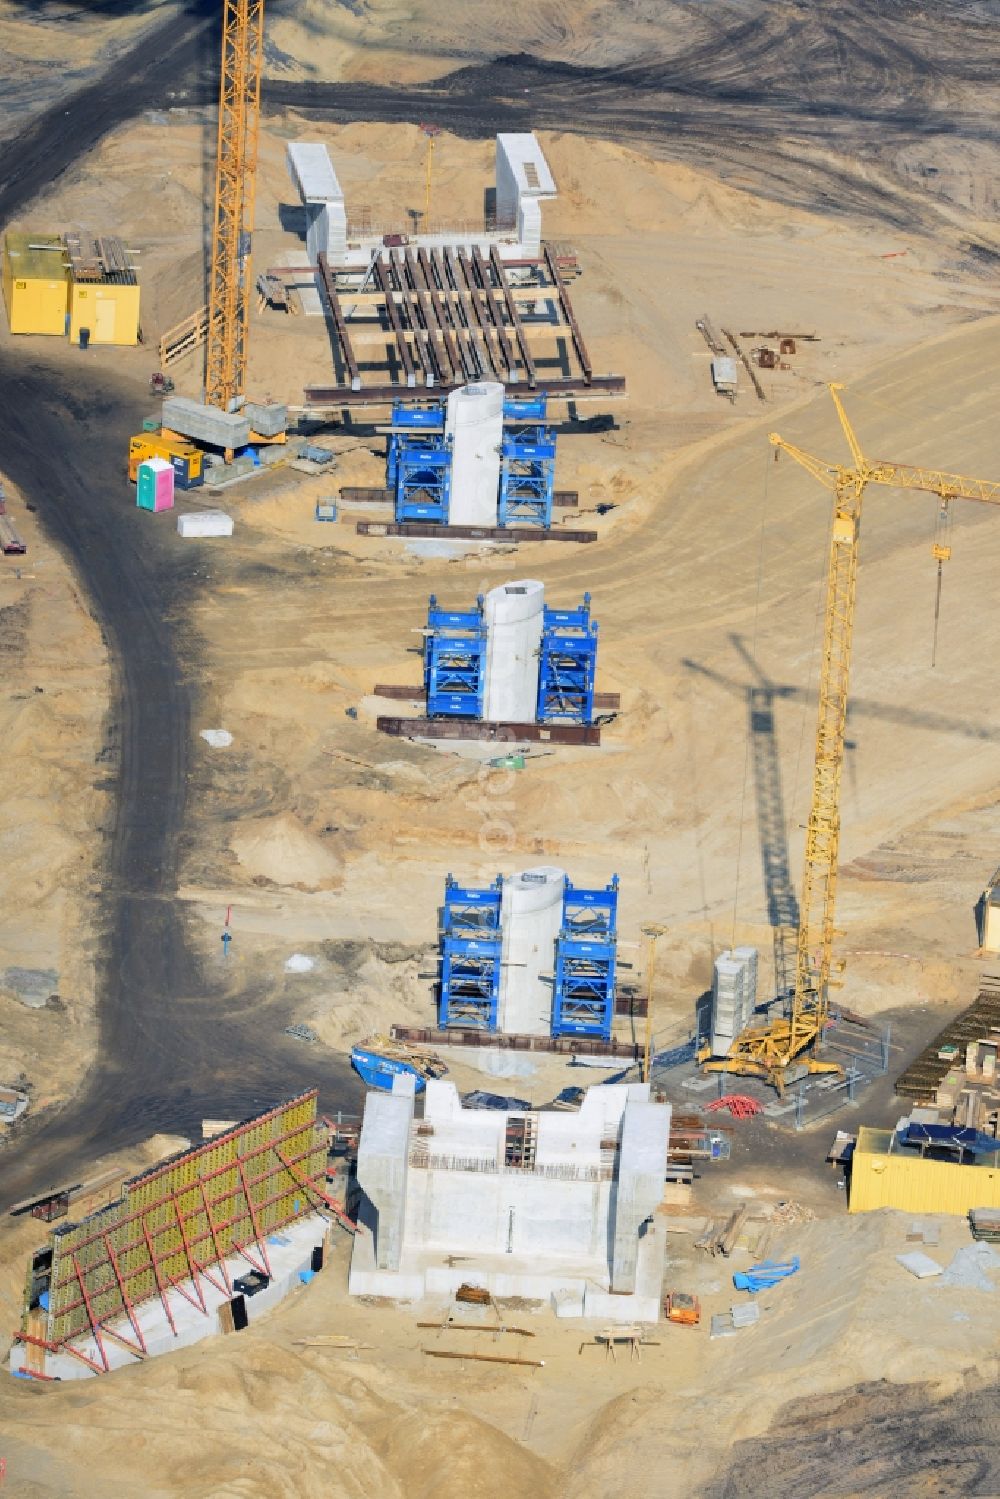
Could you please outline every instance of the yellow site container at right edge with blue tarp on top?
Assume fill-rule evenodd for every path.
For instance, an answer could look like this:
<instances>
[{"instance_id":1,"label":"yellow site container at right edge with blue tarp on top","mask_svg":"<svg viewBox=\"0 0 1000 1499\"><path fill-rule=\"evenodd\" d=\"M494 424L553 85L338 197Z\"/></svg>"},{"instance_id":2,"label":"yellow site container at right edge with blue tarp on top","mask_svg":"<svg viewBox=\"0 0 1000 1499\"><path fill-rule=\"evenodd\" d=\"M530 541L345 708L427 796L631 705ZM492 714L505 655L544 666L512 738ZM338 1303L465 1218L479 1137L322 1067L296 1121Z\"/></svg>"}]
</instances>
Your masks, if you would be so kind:
<instances>
[{"instance_id":1,"label":"yellow site container at right edge with blue tarp on top","mask_svg":"<svg viewBox=\"0 0 1000 1499\"><path fill-rule=\"evenodd\" d=\"M852 1213L898 1208L964 1217L970 1208L1000 1208L1000 1169L928 1160L891 1150L892 1139L889 1129L858 1130L850 1163Z\"/></svg>"}]
</instances>

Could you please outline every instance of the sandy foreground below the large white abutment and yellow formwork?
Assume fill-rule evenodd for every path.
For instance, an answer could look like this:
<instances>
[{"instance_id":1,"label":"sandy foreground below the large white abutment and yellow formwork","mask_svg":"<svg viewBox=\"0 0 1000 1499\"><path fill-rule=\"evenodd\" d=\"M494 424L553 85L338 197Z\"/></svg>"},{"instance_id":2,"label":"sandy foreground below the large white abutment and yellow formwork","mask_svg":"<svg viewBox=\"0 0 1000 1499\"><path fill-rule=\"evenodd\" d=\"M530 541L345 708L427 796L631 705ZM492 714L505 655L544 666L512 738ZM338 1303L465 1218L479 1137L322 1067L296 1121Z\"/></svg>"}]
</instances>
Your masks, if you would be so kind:
<instances>
[{"instance_id":1,"label":"sandy foreground below the large white abutment and yellow formwork","mask_svg":"<svg viewBox=\"0 0 1000 1499\"><path fill-rule=\"evenodd\" d=\"M150 1142L142 1159L154 1159L166 1144ZM780 1204L790 1190L795 1213L805 1220L781 1222ZM907 1418L925 1423L942 1397L967 1397L996 1381L996 1355L984 1351L996 1348L1000 1304L982 1291L915 1280L895 1261L913 1249L910 1219L888 1211L846 1219L838 1196L832 1177L814 1174L775 1181L757 1169L738 1181L699 1184L702 1210L721 1214L750 1202L757 1219L777 1213L771 1252L778 1258L795 1253L802 1262L798 1276L759 1297L756 1328L723 1340L709 1339L709 1319L745 1300L733 1291L732 1274L750 1258L745 1250L732 1261L708 1258L693 1246L705 1217L666 1210L664 1283L694 1291L703 1322L697 1330L663 1324L640 1363L624 1351L610 1363L592 1342L597 1324L559 1322L532 1303L504 1307L505 1321L532 1336L498 1342L478 1309L348 1301L349 1243L334 1231L324 1274L238 1343L216 1339L99 1384L39 1390L1 1382L7 1486L33 1499L139 1490L156 1499L181 1490L205 1499L274 1492L303 1499L324 1493L501 1499L514 1487L543 1499L603 1499L639 1489L681 1499L708 1492L729 1454L739 1451L735 1444L760 1439L789 1400L813 1399L826 1414L829 1399L817 1397L840 1391L850 1411L855 1387L879 1381L889 1382L883 1391L892 1390L892 1424L883 1438L892 1450L894 1427ZM948 1264L967 1238L961 1223L942 1219L940 1244L931 1255ZM27 1250L34 1240L37 1225L21 1225L16 1235L6 1228L4 1259L15 1244ZM439 1324L448 1312L484 1331L417 1325ZM300 1343L328 1333L361 1346L337 1351ZM426 1348L513 1354L543 1360L544 1367L453 1366L432 1360ZM930 1388L922 1384L928 1376ZM855 1454L871 1445L874 1433L865 1435L861 1396L853 1406L858 1441L822 1480L814 1477L810 1487L789 1487L789 1493L862 1492L852 1484L855 1468L862 1466ZM802 1462L807 1441L817 1427L823 1430L823 1421L799 1421ZM183 1460L178 1430L184 1430ZM955 1417L955 1435L963 1430ZM967 1459L976 1441L988 1441L988 1430L967 1435ZM864 1492L922 1492L916 1487L919 1445L891 1451L882 1486ZM733 1471L745 1481L745 1469ZM996 1478L996 1468L991 1472ZM951 1472L939 1463L934 1492L994 1492L964 1487L967 1480L967 1468Z\"/></svg>"}]
</instances>

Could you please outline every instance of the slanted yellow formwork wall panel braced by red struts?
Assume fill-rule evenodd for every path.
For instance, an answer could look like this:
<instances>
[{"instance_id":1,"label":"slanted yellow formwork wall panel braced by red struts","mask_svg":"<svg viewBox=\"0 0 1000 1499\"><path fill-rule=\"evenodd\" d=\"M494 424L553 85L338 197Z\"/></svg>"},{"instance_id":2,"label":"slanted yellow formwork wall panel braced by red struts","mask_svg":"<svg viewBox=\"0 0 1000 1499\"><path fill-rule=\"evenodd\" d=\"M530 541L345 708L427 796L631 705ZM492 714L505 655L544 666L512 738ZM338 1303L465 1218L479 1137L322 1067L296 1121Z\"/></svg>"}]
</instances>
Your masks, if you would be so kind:
<instances>
[{"instance_id":1,"label":"slanted yellow formwork wall panel braced by red struts","mask_svg":"<svg viewBox=\"0 0 1000 1499\"><path fill-rule=\"evenodd\" d=\"M190 1280L192 1261L211 1267L237 1244L253 1243L258 1229L265 1237L310 1211L312 1195L280 1156L295 1163L297 1177L322 1177L325 1139L316 1129L315 1093L127 1181L118 1202L55 1229L46 1337L61 1342L88 1331L90 1313L97 1321L121 1315L121 1283L138 1306L171 1280Z\"/></svg>"}]
</instances>

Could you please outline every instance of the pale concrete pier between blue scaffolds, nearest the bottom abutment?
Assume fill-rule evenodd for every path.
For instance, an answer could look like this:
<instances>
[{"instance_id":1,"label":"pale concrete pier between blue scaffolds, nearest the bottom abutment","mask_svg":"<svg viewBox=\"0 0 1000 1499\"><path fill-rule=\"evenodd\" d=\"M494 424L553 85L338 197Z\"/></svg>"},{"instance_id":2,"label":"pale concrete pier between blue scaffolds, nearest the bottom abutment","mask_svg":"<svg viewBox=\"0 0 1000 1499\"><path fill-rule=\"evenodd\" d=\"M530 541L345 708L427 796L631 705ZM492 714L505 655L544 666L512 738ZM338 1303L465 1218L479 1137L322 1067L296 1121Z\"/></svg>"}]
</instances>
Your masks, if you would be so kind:
<instances>
[{"instance_id":1,"label":"pale concrete pier between blue scaffolds, nearest the bottom abutment","mask_svg":"<svg viewBox=\"0 0 1000 1499\"><path fill-rule=\"evenodd\" d=\"M498 1030L547 1036L556 938L562 929L565 869L549 865L511 874L501 896L501 986Z\"/></svg>"}]
</instances>

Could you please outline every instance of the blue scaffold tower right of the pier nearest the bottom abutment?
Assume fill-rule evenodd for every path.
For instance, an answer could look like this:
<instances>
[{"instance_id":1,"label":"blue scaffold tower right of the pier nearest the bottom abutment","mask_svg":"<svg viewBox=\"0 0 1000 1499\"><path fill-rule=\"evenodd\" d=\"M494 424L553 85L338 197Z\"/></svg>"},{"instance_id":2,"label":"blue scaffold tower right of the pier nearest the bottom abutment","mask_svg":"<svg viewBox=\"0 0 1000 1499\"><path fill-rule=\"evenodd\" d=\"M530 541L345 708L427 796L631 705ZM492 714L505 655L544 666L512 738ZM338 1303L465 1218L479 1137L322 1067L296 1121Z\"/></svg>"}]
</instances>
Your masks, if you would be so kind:
<instances>
[{"instance_id":1,"label":"blue scaffold tower right of the pier nearest the bottom abutment","mask_svg":"<svg viewBox=\"0 0 1000 1499\"><path fill-rule=\"evenodd\" d=\"M610 1039L616 947L618 875L603 890L586 890L567 880L556 941L553 1036Z\"/></svg>"}]
</instances>

